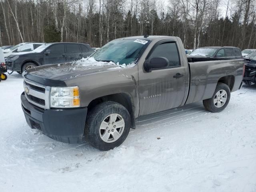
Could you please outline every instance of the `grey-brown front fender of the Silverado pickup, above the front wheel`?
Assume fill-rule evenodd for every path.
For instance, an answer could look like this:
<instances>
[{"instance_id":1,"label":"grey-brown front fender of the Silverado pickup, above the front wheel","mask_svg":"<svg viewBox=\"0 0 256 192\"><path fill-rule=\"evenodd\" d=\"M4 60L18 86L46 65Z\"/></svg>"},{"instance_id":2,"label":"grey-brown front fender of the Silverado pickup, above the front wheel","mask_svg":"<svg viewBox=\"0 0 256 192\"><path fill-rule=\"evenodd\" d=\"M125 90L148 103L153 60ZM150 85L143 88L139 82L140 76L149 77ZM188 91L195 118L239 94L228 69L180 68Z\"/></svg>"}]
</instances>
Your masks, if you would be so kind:
<instances>
[{"instance_id":1,"label":"grey-brown front fender of the Silverado pickup, above the front wheel","mask_svg":"<svg viewBox=\"0 0 256 192\"><path fill-rule=\"evenodd\" d=\"M134 116L138 116L138 66L104 70L66 80L67 86L79 86L81 107L87 107L96 98L127 93L134 102Z\"/></svg>"}]
</instances>

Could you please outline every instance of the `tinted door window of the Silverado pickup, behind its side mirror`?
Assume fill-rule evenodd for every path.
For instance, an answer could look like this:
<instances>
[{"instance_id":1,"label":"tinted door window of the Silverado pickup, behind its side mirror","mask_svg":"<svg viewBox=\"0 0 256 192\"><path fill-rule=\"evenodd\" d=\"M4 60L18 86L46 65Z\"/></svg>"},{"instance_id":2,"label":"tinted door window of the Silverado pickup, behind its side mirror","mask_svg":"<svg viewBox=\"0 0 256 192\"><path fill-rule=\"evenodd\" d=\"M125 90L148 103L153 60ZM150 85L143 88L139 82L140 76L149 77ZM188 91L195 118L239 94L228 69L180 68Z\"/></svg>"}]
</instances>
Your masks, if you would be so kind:
<instances>
[{"instance_id":1,"label":"tinted door window of the Silverado pickup, behind its side mirror","mask_svg":"<svg viewBox=\"0 0 256 192\"><path fill-rule=\"evenodd\" d=\"M149 60L154 57L165 57L169 61L168 68L180 66L180 57L178 48L175 42L163 43L158 45L149 57Z\"/></svg>"}]
</instances>

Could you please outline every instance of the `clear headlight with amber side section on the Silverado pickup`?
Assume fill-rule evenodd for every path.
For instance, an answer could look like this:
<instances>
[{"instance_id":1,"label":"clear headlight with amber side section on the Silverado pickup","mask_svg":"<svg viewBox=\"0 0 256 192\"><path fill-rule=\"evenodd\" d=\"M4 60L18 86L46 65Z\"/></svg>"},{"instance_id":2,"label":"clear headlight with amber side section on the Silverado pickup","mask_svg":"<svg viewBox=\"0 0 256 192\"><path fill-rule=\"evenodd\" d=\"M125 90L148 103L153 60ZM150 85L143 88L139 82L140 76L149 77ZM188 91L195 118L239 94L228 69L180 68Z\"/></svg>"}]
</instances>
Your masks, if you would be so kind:
<instances>
[{"instance_id":1,"label":"clear headlight with amber side section on the Silverado pickup","mask_svg":"<svg viewBox=\"0 0 256 192\"><path fill-rule=\"evenodd\" d=\"M50 103L53 108L80 107L80 95L78 86L52 87Z\"/></svg>"}]
</instances>

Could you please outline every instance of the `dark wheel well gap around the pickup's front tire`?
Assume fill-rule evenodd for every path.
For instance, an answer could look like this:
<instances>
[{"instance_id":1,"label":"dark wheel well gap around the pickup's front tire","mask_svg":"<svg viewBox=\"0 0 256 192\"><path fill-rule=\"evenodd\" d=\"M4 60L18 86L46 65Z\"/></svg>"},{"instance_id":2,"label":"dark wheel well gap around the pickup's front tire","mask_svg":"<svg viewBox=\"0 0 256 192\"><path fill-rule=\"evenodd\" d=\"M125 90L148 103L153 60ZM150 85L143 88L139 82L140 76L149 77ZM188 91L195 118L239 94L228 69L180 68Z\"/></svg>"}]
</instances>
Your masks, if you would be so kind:
<instances>
[{"instance_id":1,"label":"dark wheel well gap around the pickup's front tire","mask_svg":"<svg viewBox=\"0 0 256 192\"><path fill-rule=\"evenodd\" d=\"M92 100L88 105L88 111L90 111L94 106L106 101L113 101L123 105L131 116L131 128L135 129L135 116L134 116L134 101L129 93L115 93L106 96L101 96Z\"/></svg>"}]
</instances>

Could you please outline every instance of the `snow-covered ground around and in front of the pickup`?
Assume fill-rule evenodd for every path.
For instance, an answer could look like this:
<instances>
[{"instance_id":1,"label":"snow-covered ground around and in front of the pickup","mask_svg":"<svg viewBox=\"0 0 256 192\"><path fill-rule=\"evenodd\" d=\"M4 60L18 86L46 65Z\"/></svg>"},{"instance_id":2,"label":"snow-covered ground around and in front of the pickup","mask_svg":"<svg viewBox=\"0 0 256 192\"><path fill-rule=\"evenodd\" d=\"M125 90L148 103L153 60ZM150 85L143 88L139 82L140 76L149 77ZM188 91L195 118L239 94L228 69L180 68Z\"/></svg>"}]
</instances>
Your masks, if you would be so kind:
<instances>
[{"instance_id":1,"label":"snow-covered ground around and in front of the pickup","mask_svg":"<svg viewBox=\"0 0 256 192\"><path fill-rule=\"evenodd\" d=\"M107 152L31 130L22 91L17 73L0 82L0 192L256 191L256 86L220 113L198 102L142 118Z\"/></svg>"}]
</instances>

